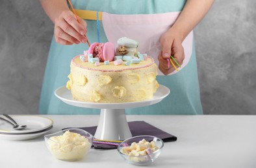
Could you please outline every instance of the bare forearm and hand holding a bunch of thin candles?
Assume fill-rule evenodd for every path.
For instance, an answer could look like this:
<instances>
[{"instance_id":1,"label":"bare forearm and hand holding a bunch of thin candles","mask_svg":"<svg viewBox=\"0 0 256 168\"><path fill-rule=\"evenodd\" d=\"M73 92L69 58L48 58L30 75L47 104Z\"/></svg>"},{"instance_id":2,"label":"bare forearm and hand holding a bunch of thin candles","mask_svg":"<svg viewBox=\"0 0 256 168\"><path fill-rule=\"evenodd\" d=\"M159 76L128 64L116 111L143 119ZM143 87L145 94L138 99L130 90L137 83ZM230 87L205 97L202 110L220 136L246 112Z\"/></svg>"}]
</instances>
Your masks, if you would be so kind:
<instances>
[{"instance_id":1,"label":"bare forearm and hand holding a bunch of thin candles","mask_svg":"<svg viewBox=\"0 0 256 168\"><path fill-rule=\"evenodd\" d=\"M168 75L175 70L172 65L168 68L166 58L170 58L171 55L180 65L183 63L185 55L181 43L194 26L207 14L213 2L214 0L187 0L186 5L173 26L160 37L162 53L159 54L158 59L159 69L163 74Z\"/></svg>"}]
</instances>

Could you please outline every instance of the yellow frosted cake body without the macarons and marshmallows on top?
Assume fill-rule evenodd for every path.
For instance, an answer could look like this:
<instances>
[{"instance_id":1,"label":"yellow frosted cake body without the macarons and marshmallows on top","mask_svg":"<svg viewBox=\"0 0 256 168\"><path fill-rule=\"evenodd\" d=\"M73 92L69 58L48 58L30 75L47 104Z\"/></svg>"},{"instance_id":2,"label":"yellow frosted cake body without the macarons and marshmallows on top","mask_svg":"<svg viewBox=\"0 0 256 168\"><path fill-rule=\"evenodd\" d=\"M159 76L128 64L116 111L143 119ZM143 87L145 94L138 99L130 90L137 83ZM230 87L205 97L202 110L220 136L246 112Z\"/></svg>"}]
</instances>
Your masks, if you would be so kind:
<instances>
[{"instance_id":1,"label":"yellow frosted cake body without the macarons and marshmallows on top","mask_svg":"<svg viewBox=\"0 0 256 168\"><path fill-rule=\"evenodd\" d=\"M131 66L101 63L94 66L76 57L71 61L67 83L73 98L98 103L123 103L153 98L157 83L157 65L153 58Z\"/></svg>"}]
</instances>

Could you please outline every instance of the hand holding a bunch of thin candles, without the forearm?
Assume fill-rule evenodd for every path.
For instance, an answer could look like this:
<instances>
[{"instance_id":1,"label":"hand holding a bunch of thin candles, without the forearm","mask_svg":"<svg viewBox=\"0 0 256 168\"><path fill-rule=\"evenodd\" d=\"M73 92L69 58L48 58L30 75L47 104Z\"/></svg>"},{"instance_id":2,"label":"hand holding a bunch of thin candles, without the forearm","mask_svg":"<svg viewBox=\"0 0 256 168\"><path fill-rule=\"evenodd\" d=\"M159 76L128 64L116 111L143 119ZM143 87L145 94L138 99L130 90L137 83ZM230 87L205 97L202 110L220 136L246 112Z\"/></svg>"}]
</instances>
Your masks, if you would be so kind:
<instances>
[{"instance_id":1,"label":"hand holding a bunch of thin candles, without the forearm","mask_svg":"<svg viewBox=\"0 0 256 168\"><path fill-rule=\"evenodd\" d=\"M179 65L182 65L183 60L185 58L182 41L183 41L183 38L179 36L179 34L175 33L172 30L172 28L170 28L170 30L162 34L162 36L160 37L162 52L159 53L158 60L159 60L159 70L163 74L168 75L171 72L173 72L173 70L175 70L175 68L172 66L171 63L170 63L170 67L168 67L168 61L166 59L169 59L170 56L173 56L173 58L176 59Z\"/></svg>"}]
</instances>

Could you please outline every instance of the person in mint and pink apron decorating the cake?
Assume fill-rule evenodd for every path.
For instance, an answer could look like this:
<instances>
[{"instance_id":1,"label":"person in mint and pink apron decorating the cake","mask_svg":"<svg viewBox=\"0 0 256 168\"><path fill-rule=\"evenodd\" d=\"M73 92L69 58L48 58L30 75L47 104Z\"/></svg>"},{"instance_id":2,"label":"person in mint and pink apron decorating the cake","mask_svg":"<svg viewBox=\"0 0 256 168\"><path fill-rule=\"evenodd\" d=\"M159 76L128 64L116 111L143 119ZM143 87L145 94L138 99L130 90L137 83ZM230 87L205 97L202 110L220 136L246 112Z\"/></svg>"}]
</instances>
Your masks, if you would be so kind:
<instances>
[{"instance_id":1,"label":"person in mint and pink apron decorating the cake","mask_svg":"<svg viewBox=\"0 0 256 168\"><path fill-rule=\"evenodd\" d=\"M98 22L99 34L97 21L79 17L79 24L67 1L40 1L55 24L42 85L41 114L99 113L99 109L67 105L54 95L68 81L71 58L88 49L86 37L93 43L97 35L101 43L115 43L118 36L138 40L139 51L152 56L159 66L157 81L171 90L160 103L126 109L127 114L203 114L192 29L205 16L213 0L71 1L77 10L104 12L102 21ZM179 72L168 65L166 58L171 55L181 65Z\"/></svg>"}]
</instances>

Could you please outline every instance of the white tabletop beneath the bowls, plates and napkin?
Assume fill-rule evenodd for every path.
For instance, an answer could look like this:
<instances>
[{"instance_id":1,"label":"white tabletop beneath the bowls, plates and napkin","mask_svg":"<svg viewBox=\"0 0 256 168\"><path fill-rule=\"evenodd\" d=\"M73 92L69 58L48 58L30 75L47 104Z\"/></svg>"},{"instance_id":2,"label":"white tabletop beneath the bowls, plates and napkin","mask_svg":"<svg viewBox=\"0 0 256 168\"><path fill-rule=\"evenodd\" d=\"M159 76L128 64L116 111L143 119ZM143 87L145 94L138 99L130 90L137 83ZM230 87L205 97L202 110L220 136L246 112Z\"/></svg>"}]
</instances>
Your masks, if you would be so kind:
<instances>
[{"instance_id":1,"label":"white tabletop beneath the bowls, plates and napkin","mask_svg":"<svg viewBox=\"0 0 256 168\"><path fill-rule=\"evenodd\" d=\"M51 132L64 127L97 125L99 116L49 115ZM256 116L129 116L146 121L177 136L166 142L159 158L149 167L256 167ZM57 160L47 150L44 136L27 141L0 140L0 167L137 167L126 163L116 149L91 149L77 162Z\"/></svg>"}]
</instances>

